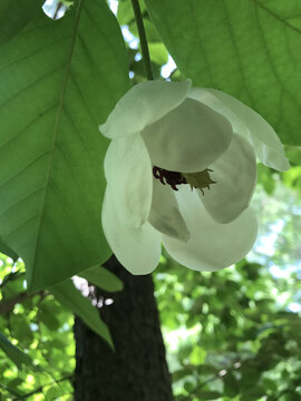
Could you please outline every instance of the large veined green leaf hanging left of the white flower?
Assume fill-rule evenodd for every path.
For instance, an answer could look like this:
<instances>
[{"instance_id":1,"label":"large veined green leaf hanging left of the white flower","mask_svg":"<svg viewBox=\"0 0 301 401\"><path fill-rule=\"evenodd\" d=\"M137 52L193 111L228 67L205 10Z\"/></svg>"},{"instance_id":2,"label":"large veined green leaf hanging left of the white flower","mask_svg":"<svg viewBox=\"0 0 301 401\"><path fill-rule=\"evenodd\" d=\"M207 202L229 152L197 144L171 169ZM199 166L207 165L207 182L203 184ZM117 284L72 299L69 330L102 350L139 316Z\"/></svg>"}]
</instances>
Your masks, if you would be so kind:
<instances>
[{"instance_id":1,"label":"large veined green leaf hanging left of the white flower","mask_svg":"<svg viewBox=\"0 0 301 401\"><path fill-rule=\"evenodd\" d=\"M59 21L40 11L0 71L0 236L37 291L110 254L98 124L128 88L127 55L105 0L81 0Z\"/></svg>"}]
</instances>

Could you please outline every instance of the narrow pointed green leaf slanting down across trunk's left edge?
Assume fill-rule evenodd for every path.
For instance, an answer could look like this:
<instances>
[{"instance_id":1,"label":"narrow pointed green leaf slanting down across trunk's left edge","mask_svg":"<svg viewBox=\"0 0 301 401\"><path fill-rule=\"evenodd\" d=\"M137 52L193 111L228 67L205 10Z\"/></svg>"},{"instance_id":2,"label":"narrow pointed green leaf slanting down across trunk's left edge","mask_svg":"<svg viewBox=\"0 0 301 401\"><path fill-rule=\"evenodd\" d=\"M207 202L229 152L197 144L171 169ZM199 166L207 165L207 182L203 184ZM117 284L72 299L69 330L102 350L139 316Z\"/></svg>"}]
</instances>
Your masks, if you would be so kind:
<instances>
[{"instance_id":1,"label":"narrow pointed green leaf slanting down across trunk's left edge","mask_svg":"<svg viewBox=\"0 0 301 401\"><path fill-rule=\"evenodd\" d=\"M107 325L100 320L98 310L93 306L91 301L74 286L71 280L51 286L49 291L64 306L69 309L97 334L99 334L108 344L114 348Z\"/></svg>"}]
</instances>

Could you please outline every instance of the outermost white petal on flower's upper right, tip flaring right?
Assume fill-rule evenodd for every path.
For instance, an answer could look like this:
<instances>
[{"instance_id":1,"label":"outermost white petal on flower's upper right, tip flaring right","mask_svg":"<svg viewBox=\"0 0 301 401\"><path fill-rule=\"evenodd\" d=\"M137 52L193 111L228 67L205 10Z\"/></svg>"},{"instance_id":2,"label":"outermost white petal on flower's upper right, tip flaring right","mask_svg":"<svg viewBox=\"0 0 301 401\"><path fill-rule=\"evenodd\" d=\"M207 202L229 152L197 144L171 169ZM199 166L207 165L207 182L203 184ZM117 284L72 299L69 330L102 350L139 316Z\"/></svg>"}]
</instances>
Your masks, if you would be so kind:
<instances>
[{"instance_id":1,"label":"outermost white petal on flower's upper right, tip flaring right","mask_svg":"<svg viewBox=\"0 0 301 401\"><path fill-rule=\"evenodd\" d=\"M265 166L284 172L290 168L283 145L274 129L256 111L234 97L216 89L194 88L190 97L220 111L230 119L235 133L245 135L260 162Z\"/></svg>"}]
</instances>

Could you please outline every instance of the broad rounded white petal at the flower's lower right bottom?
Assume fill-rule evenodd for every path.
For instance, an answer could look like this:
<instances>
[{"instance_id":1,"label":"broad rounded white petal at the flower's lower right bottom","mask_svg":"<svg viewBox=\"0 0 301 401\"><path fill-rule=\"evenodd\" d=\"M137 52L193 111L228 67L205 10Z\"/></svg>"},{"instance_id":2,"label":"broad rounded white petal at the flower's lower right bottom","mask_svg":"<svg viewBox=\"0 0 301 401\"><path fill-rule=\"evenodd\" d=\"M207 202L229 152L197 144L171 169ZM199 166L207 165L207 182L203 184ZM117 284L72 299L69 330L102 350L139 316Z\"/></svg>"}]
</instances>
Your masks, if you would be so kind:
<instances>
[{"instance_id":1,"label":"broad rounded white petal at the flower's lower right bottom","mask_svg":"<svg viewBox=\"0 0 301 401\"><path fill-rule=\"evenodd\" d=\"M177 262L196 271L215 271L239 262L252 248L258 224L250 208L232 223L219 224L186 185L178 188L176 197L191 239L183 243L163 235L163 244Z\"/></svg>"}]
</instances>

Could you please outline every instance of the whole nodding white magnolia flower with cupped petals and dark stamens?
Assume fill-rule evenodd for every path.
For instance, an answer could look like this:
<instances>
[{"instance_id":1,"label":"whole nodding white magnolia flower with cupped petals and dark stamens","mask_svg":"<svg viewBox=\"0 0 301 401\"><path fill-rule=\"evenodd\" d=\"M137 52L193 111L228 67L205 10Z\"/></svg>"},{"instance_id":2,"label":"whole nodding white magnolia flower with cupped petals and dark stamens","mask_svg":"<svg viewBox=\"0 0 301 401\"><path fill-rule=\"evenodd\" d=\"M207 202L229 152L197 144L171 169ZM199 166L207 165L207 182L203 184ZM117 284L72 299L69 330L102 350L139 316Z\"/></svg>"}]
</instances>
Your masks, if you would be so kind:
<instances>
[{"instance_id":1,"label":"whole nodding white magnolia flower with cupped petals and dark stamens","mask_svg":"<svg viewBox=\"0 0 301 401\"><path fill-rule=\"evenodd\" d=\"M191 81L134 86L100 131L110 138L103 205L106 238L134 274L151 273L161 243L184 266L226 267L252 248L249 207L256 157L285 170L273 128L255 111Z\"/></svg>"}]
</instances>

